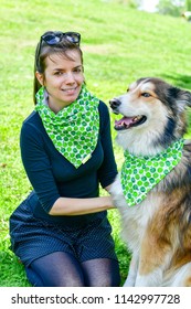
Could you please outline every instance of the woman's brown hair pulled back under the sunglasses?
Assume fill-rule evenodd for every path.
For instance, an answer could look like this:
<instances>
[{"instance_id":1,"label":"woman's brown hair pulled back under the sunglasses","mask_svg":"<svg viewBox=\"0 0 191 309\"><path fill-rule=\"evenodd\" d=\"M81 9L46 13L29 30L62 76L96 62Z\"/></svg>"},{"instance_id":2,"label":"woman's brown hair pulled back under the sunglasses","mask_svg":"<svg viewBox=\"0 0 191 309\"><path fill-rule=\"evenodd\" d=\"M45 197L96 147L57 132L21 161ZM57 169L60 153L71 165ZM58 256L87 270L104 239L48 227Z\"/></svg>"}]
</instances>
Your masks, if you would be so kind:
<instances>
[{"instance_id":1,"label":"woman's brown hair pulled back under the sunglasses","mask_svg":"<svg viewBox=\"0 0 191 309\"><path fill-rule=\"evenodd\" d=\"M53 33L53 31L47 31L43 35L47 33ZM65 36L62 38L62 41L54 44L49 45L44 40L41 39L41 41L38 43L35 49L35 58L34 58L34 81L33 81L33 100L34 104L36 104L35 94L38 90L42 87L42 85L39 83L35 72L38 71L41 74L44 74L44 71L46 68L45 58L50 57L53 54L60 54L68 60L73 60L68 55L68 51L77 51L82 58L83 64L83 52L78 44L75 44L71 41L68 41Z\"/></svg>"}]
</instances>

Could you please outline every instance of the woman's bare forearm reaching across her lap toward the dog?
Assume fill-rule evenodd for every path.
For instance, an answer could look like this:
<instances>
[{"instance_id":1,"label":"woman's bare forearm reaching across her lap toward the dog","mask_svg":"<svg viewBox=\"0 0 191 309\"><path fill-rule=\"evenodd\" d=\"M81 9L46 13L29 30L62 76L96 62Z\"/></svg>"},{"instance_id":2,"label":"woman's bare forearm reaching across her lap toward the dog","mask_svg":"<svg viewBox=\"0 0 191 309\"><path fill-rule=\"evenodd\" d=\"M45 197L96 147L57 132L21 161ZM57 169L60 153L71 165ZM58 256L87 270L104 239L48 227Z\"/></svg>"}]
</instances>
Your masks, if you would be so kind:
<instances>
[{"instance_id":1,"label":"woman's bare forearm reaching across her lap toward the dog","mask_svg":"<svg viewBox=\"0 0 191 309\"><path fill-rule=\"evenodd\" d=\"M50 210L50 215L81 215L113 209L110 196L92 199L59 198Z\"/></svg>"}]
</instances>

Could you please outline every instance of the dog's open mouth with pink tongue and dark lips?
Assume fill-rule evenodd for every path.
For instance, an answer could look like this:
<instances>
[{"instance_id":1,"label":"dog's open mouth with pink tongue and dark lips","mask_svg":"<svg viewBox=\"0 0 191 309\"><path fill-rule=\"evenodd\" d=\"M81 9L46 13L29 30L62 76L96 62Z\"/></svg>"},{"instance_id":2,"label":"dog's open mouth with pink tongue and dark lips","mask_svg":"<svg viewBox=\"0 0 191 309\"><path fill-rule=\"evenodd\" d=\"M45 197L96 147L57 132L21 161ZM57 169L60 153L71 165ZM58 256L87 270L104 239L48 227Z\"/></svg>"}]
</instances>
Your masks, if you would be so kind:
<instances>
[{"instance_id":1,"label":"dog's open mouth with pink tongue and dark lips","mask_svg":"<svg viewBox=\"0 0 191 309\"><path fill-rule=\"evenodd\" d=\"M134 117L124 116L120 120L115 120L116 130L126 130L131 127L137 127L142 125L147 120L147 117L144 115L138 115Z\"/></svg>"}]
</instances>

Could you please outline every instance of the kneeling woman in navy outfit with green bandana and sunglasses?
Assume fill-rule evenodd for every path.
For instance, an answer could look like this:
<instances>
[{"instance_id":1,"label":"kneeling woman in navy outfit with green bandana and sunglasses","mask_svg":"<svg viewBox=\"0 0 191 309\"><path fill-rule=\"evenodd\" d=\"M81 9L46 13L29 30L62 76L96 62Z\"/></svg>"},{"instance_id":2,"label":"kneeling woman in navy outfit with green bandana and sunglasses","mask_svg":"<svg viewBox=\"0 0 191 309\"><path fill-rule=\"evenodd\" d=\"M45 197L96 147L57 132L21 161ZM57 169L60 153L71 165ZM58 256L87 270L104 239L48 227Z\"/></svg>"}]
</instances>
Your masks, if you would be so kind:
<instances>
[{"instance_id":1,"label":"kneeling woman in navy outfit with green bandana and sunglasses","mask_svg":"<svg viewBox=\"0 0 191 309\"><path fill-rule=\"evenodd\" d=\"M12 251L33 286L118 286L107 210L116 174L106 105L86 88L81 35L49 31L36 46L35 110L21 129L33 191L10 217Z\"/></svg>"}]
</instances>

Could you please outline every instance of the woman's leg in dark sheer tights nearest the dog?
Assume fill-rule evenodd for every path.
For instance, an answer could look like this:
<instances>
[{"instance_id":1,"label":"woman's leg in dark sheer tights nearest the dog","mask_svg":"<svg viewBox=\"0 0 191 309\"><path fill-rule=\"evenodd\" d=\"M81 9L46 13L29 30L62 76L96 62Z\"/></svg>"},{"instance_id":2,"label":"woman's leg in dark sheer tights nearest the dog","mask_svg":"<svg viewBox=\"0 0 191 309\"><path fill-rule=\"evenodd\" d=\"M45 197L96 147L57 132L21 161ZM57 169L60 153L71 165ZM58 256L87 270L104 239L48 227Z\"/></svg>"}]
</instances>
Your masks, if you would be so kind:
<instances>
[{"instance_id":1,"label":"woman's leg in dark sheer tights nearest the dog","mask_svg":"<svg viewBox=\"0 0 191 309\"><path fill-rule=\"evenodd\" d=\"M95 258L82 263L87 287L118 287L119 265L116 259Z\"/></svg>"}]
</instances>

